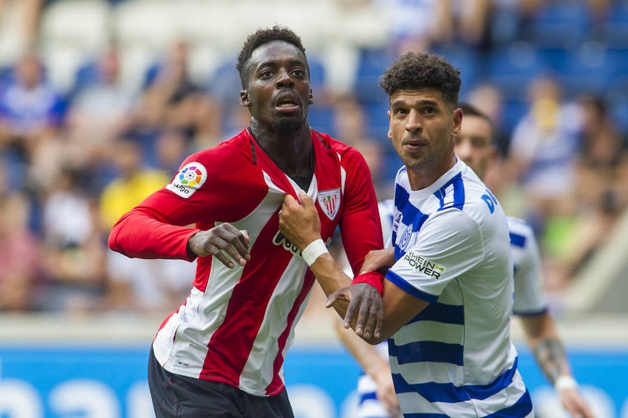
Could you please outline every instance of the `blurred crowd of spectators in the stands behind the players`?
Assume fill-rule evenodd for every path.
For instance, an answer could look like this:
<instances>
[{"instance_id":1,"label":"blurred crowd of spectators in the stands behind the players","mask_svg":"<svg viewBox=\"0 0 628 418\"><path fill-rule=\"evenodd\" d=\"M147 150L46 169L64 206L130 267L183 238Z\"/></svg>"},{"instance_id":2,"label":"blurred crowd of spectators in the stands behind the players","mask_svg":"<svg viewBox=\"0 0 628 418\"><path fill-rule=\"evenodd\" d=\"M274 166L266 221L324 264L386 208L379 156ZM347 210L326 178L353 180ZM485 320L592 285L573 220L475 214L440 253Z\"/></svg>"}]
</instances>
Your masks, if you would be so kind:
<instances>
[{"instance_id":1,"label":"blurred crowd of spectators in the stands behind the players","mask_svg":"<svg viewBox=\"0 0 628 418\"><path fill-rule=\"evenodd\" d=\"M188 41L173 40L137 68L141 82L129 89L120 82L124 56L112 37L63 89L51 82L38 50L38 22L61 1L24 0L24 50L0 69L0 311L128 311L130 298L142 313L172 311L189 292L195 264L128 259L108 250L107 237L191 152L246 126L235 59L225 57L224 68L200 82L190 76ZM358 48L346 89L330 87L325 66L308 55L313 128L359 149L380 199L391 197L401 163L387 140L377 76L401 52L443 54L461 70L461 99L489 114L498 130L501 158L486 183L507 213L532 223L546 288L560 294L628 206L628 38L613 37L615 29L628 33L628 4L342 2L382 10L391 30L383 47ZM584 11L588 30L572 33L571 22L558 35L560 22L543 26L560 10L571 17ZM618 20L622 10L625 20ZM613 67L602 60L575 68L574 51L584 64L601 53L613 57ZM539 57L552 65L532 68ZM500 73L509 60L514 65Z\"/></svg>"}]
</instances>

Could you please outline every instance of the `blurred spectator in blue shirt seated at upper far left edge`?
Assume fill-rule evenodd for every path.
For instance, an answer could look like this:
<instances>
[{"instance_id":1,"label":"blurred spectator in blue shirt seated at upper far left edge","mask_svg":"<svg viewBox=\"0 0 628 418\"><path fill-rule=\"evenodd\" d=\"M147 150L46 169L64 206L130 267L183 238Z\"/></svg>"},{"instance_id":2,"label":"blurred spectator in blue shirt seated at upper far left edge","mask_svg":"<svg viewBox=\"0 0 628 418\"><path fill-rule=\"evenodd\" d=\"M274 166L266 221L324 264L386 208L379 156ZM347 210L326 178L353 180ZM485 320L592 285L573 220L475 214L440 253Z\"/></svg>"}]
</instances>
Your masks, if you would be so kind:
<instances>
[{"instance_id":1,"label":"blurred spectator in blue shirt seated at upper far left edge","mask_svg":"<svg viewBox=\"0 0 628 418\"><path fill-rule=\"evenodd\" d=\"M65 102L45 80L40 59L25 54L0 90L0 149L13 174L10 184L26 186L33 155L57 135L64 117Z\"/></svg>"}]
</instances>

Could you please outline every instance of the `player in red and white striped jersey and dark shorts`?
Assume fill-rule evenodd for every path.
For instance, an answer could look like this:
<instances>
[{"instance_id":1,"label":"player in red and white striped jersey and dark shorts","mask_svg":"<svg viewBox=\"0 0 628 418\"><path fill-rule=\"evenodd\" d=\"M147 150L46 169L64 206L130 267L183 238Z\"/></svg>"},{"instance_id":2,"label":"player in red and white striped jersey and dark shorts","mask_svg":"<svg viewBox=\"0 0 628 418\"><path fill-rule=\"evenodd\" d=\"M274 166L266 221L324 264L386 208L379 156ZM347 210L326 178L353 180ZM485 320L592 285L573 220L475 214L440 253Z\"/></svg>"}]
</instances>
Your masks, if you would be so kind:
<instances>
[{"instance_id":1,"label":"player in red and white striped jersey and dark shorts","mask_svg":"<svg viewBox=\"0 0 628 418\"><path fill-rule=\"evenodd\" d=\"M157 418L293 417L283 359L315 278L278 230L285 195L307 191L323 239L336 227L343 237L359 235L347 240L354 271L383 246L364 158L308 124L313 93L299 36L283 27L255 31L237 70L249 126L186 158L109 238L110 248L128 257L197 260L187 300L151 346ZM329 290L351 283L343 279Z\"/></svg>"}]
</instances>

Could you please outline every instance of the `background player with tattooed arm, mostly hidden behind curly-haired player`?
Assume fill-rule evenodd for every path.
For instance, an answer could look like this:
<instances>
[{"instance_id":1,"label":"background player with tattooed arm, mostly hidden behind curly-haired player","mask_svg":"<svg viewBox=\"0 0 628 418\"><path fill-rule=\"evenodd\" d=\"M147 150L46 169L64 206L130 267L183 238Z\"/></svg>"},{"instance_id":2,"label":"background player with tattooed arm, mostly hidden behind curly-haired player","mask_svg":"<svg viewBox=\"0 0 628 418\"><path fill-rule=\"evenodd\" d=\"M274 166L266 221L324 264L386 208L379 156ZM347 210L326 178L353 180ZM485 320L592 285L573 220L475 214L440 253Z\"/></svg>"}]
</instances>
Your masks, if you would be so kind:
<instances>
[{"instance_id":1,"label":"background player with tattooed arm, mostly hidden behind curly-haired player","mask_svg":"<svg viewBox=\"0 0 628 418\"><path fill-rule=\"evenodd\" d=\"M454 151L480 178L498 158L493 140L493 126L486 114L472 105L459 104L463 110L461 132L456 137ZM394 215L391 200L380 202L380 218L384 241L390 239ZM572 417L590 418L592 412L578 393L571 375L569 361L555 329L541 283L541 260L537 242L530 225L521 219L507 217L511 253L514 264L513 313L523 324L525 337L534 352L539 367L555 386L562 406ZM362 366L365 374L358 381L359 407L357 418L398 417L398 401L394 393L388 345L374 347L336 321L341 341Z\"/></svg>"}]
</instances>

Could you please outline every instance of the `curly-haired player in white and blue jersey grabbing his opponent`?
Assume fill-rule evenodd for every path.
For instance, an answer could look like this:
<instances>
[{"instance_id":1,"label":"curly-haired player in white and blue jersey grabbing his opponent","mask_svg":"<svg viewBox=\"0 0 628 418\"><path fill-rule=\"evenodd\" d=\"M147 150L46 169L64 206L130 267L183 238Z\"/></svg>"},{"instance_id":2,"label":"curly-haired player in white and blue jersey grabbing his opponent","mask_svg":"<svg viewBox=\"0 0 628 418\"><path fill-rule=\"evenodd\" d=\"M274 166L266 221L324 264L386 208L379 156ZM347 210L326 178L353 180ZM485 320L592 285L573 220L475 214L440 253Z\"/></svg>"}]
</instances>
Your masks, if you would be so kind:
<instances>
[{"instance_id":1,"label":"curly-haired player in white and blue jersey grabbing his opponent","mask_svg":"<svg viewBox=\"0 0 628 418\"><path fill-rule=\"evenodd\" d=\"M404 163L396 176L393 246L369 253L362 270L387 271L380 283L384 317L380 322L352 303L364 292L362 282L334 292L327 305L348 303L345 327L353 327L355 312L375 316L373 335L355 331L372 344L389 338L404 416L533 417L510 339L506 216L454 154L463 119L460 85L460 72L435 54L408 52L380 77L389 137ZM285 197L280 230L307 252L319 245L312 244L320 239L318 217L313 201L299 197L301 204ZM340 268L327 253L315 255L311 269L319 283L334 283Z\"/></svg>"}]
</instances>

